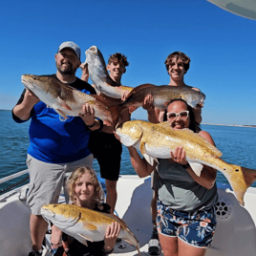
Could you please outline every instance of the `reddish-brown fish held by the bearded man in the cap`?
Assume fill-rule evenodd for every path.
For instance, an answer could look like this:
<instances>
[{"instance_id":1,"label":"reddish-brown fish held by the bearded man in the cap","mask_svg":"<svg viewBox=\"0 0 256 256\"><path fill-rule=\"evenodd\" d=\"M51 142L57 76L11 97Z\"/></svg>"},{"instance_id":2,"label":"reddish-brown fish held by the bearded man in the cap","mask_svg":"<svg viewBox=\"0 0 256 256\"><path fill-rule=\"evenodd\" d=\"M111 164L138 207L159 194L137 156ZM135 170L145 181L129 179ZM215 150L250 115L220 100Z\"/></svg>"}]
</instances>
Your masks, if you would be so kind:
<instances>
[{"instance_id":1,"label":"reddish-brown fish held by the bearded man in the cap","mask_svg":"<svg viewBox=\"0 0 256 256\"><path fill-rule=\"evenodd\" d=\"M106 125L117 123L117 107L110 106L103 98L82 93L72 86L47 75L22 75L21 82L41 101L53 108L64 119L78 117L84 103L93 105L95 116Z\"/></svg>"}]
</instances>

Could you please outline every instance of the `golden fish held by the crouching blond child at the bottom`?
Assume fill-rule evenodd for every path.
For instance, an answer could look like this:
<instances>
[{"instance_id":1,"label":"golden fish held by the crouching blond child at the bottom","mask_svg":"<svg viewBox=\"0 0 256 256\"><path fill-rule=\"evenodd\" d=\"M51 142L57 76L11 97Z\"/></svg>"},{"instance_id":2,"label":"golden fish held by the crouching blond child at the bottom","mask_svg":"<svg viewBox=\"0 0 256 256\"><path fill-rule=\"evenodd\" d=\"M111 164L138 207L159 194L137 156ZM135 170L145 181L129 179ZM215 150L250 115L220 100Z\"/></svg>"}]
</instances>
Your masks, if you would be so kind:
<instances>
[{"instance_id":1,"label":"golden fish held by the crouching blond child at the bottom","mask_svg":"<svg viewBox=\"0 0 256 256\"><path fill-rule=\"evenodd\" d=\"M41 215L48 223L51 222L83 245L87 245L87 241L104 240L107 226L117 222L121 227L118 238L135 246L139 251L139 242L133 232L114 215L64 203L42 206Z\"/></svg>"}]
</instances>

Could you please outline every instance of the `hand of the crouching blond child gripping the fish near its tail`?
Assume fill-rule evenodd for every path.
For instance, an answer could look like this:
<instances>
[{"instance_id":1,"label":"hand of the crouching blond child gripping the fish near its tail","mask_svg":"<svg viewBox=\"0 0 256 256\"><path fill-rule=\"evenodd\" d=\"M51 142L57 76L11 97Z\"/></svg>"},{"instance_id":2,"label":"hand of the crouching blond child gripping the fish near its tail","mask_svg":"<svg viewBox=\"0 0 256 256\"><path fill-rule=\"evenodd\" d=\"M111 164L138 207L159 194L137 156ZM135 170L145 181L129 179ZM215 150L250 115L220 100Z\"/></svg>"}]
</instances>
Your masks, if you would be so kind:
<instances>
[{"instance_id":1,"label":"hand of the crouching blond child gripping the fish near its tail","mask_svg":"<svg viewBox=\"0 0 256 256\"><path fill-rule=\"evenodd\" d=\"M117 236L120 232L120 224L117 222L113 222L112 224L109 224L106 233L105 233L105 238L104 238L104 249L106 251L111 251L116 242L117 242Z\"/></svg>"}]
</instances>

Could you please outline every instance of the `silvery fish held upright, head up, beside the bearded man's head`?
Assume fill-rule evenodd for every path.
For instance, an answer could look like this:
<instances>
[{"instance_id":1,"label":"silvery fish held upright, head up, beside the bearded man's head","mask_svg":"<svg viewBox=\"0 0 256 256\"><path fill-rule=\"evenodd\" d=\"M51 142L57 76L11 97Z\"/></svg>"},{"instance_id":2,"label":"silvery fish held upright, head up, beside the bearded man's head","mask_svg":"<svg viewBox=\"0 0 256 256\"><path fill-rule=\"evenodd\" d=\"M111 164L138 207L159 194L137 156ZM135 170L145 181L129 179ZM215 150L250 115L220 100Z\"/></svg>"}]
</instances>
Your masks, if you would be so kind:
<instances>
[{"instance_id":1,"label":"silvery fish held upright, head up, beside the bearded man's head","mask_svg":"<svg viewBox=\"0 0 256 256\"><path fill-rule=\"evenodd\" d=\"M109 76L102 53L96 46L90 47L85 55L85 64L88 64L89 76L96 87L97 94L101 93L120 99L125 91L131 92L133 90L133 87L120 85ZM117 102L120 103L120 101Z\"/></svg>"}]
</instances>

